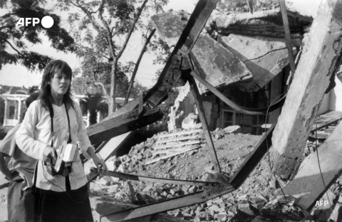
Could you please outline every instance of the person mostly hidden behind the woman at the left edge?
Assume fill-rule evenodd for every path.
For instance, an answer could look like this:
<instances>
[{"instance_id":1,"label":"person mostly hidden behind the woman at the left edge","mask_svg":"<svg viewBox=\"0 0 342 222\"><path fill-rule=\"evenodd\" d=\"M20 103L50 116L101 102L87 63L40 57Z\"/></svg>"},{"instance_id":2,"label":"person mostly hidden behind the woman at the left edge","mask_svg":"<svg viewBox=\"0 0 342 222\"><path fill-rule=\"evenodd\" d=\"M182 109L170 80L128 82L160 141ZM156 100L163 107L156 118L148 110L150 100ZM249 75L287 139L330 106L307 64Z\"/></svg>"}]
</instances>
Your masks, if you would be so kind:
<instances>
[{"instance_id":1,"label":"person mostly hidden behind the woman at the left edge","mask_svg":"<svg viewBox=\"0 0 342 222\"><path fill-rule=\"evenodd\" d=\"M37 100L39 93L26 98L26 108ZM0 142L0 171L9 180L7 191L7 212L11 221L34 221L33 173L36 159L28 157L16 146L15 134L20 124L13 127ZM4 157L11 157L6 165Z\"/></svg>"}]
</instances>

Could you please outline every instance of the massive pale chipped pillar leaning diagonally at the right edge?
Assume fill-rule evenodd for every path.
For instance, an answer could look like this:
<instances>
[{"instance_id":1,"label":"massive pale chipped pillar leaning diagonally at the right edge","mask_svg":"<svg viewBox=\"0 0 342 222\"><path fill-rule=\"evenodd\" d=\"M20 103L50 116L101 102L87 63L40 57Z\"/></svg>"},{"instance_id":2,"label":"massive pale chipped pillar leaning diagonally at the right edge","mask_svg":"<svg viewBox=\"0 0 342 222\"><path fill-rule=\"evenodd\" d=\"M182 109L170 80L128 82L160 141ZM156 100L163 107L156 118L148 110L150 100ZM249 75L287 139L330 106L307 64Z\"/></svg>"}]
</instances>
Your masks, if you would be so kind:
<instances>
[{"instance_id":1,"label":"massive pale chipped pillar leaning diagonally at the right edge","mask_svg":"<svg viewBox=\"0 0 342 222\"><path fill-rule=\"evenodd\" d=\"M342 48L341 1L323 0L274 129L274 172L292 179Z\"/></svg>"}]
</instances>

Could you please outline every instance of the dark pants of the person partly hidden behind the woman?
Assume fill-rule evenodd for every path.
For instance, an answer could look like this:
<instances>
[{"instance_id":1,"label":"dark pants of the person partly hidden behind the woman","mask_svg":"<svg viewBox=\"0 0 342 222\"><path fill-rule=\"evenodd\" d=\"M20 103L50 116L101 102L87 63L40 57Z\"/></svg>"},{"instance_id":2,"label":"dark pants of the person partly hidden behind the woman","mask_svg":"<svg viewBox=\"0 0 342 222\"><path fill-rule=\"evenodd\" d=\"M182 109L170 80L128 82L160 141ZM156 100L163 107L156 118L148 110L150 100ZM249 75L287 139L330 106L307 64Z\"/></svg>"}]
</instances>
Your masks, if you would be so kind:
<instances>
[{"instance_id":1,"label":"dark pants of the person partly hidden behind the woman","mask_svg":"<svg viewBox=\"0 0 342 222\"><path fill-rule=\"evenodd\" d=\"M9 222L34 221L35 196L31 189L23 191L24 179L21 179L16 172L12 175L7 193L7 211Z\"/></svg>"}]
</instances>

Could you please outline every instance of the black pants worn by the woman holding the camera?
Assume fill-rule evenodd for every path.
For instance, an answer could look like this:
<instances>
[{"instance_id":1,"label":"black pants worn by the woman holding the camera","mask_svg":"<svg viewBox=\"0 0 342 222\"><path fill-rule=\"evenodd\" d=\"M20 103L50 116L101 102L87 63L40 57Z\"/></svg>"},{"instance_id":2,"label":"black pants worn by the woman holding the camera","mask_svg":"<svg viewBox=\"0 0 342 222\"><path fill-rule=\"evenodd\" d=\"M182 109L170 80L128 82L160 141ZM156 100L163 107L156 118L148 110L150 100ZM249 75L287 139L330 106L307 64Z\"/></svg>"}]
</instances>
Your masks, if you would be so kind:
<instances>
[{"instance_id":1,"label":"black pants worn by the woman holding the camera","mask_svg":"<svg viewBox=\"0 0 342 222\"><path fill-rule=\"evenodd\" d=\"M66 192L46 191L37 188L36 201L38 221L93 221L88 186L71 190L68 176L66 176Z\"/></svg>"}]
</instances>

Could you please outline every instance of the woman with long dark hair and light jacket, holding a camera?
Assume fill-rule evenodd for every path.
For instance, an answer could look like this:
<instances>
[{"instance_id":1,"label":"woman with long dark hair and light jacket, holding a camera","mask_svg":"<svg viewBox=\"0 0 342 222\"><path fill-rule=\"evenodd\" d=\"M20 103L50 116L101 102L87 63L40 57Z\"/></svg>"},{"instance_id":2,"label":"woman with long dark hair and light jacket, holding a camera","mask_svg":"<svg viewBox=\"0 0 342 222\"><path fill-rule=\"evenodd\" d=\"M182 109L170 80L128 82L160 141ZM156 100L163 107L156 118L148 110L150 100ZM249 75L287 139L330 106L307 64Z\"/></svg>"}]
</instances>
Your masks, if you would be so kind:
<instances>
[{"instance_id":1,"label":"woman with long dark hair and light jacket, holding a camera","mask_svg":"<svg viewBox=\"0 0 342 222\"><path fill-rule=\"evenodd\" d=\"M70 66L62 60L46 65L42 93L28 107L16 133L19 148L38 159L34 179L38 221L93 221L79 154L76 162L64 167L63 175L53 171L51 163L56 162L61 144L79 142L81 152L89 154L97 167L107 170L91 147L79 105L71 100L71 76Z\"/></svg>"}]
</instances>

